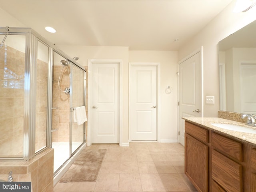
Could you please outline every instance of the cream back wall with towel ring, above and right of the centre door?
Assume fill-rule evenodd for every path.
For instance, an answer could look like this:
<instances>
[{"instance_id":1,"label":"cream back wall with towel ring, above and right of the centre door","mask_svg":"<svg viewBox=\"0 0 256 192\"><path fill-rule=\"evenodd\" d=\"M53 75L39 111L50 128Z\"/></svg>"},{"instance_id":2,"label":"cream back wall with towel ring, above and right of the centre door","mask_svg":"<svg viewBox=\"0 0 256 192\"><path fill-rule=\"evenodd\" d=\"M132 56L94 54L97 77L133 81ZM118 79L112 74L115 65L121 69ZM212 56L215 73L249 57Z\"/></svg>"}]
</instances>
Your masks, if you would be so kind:
<instances>
[{"instance_id":1,"label":"cream back wall with towel ring, above and right of the centre door","mask_svg":"<svg viewBox=\"0 0 256 192\"><path fill-rule=\"evenodd\" d=\"M129 62L160 62L160 127L159 142L177 141L177 52L129 51ZM172 93L166 94L166 88Z\"/></svg>"}]
</instances>

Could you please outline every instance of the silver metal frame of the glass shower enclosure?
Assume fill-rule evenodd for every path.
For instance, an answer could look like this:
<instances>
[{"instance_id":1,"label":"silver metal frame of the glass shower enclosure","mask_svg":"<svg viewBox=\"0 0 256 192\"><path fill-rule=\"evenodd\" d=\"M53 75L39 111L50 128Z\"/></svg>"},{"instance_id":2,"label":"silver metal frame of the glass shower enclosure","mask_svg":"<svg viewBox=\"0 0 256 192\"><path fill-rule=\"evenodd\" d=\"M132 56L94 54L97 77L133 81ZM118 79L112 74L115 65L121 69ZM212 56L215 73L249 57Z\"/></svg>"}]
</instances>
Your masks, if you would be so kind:
<instances>
[{"instance_id":1,"label":"silver metal frame of the glass shower enclosure","mask_svg":"<svg viewBox=\"0 0 256 192\"><path fill-rule=\"evenodd\" d=\"M6 27L0 27L0 34L6 35ZM54 63L54 52L66 60L72 62L75 66L84 71L84 106L86 99L86 70L82 68L76 60L67 54L55 48L52 43L43 38L40 34L32 30L32 28L8 27L8 36L25 35L25 71L24 71L24 146L23 158L0 158L0 160L29 160L36 154L51 147L51 129L52 129L52 66ZM48 94L47 94L47 129L46 129L46 147L35 152L35 127L36 127L36 62L38 41L48 47ZM85 142L85 126L83 134L83 143ZM70 142L72 137L70 137ZM70 150L70 156L71 154Z\"/></svg>"}]
</instances>

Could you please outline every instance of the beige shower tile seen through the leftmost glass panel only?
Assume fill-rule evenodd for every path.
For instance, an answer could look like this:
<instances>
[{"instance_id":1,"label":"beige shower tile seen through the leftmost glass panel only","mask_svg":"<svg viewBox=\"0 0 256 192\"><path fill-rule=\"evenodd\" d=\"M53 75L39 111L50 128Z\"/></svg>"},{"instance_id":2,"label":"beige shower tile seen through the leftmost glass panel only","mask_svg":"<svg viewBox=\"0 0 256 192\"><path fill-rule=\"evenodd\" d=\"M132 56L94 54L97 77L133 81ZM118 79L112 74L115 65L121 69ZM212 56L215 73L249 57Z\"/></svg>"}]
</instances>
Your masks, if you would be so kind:
<instances>
[{"instance_id":1,"label":"beige shower tile seen through the leftmost glass panel only","mask_svg":"<svg viewBox=\"0 0 256 192\"><path fill-rule=\"evenodd\" d=\"M22 156L24 124L24 53L0 48L0 154Z\"/></svg>"}]
</instances>

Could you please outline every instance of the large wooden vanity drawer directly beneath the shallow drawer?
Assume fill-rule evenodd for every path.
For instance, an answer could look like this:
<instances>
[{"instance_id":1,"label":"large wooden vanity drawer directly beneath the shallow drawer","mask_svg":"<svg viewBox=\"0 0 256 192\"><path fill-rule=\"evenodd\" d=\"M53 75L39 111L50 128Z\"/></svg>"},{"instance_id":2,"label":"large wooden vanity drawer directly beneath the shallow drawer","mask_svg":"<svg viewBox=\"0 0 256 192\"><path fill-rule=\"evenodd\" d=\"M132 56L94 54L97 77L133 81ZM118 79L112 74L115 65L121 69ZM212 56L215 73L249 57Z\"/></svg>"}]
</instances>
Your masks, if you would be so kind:
<instances>
[{"instance_id":1,"label":"large wooden vanity drawer directly beneath the shallow drawer","mask_svg":"<svg viewBox=\"0 0 256 192\"><path fill-rule=\"evenodd\" d=\"M212 150L212 179L227 192L242 192L242 166Z\"/></svg>"}]
</instances>

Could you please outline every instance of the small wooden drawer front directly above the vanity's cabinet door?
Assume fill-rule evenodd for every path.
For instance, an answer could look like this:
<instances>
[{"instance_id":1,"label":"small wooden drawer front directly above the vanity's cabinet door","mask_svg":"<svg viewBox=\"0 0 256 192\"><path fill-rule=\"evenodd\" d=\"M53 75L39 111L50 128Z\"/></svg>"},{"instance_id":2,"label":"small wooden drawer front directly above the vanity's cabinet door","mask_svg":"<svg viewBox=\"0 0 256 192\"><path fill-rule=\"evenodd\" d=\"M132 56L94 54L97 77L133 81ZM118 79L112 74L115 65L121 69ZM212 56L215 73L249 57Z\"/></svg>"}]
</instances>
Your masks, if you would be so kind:
<instances>
[{"instance_id":1,"label":"small wooden drawer front directly above the vanity's cabinet door","mask_svg":"<svg viewBox=\"0 0 256 192\"><path fill-rule=\"evenodd\" d=\"M209 142L208 130L185 121L185 132L202 142Z\"/></svg>"}]
</instances>

